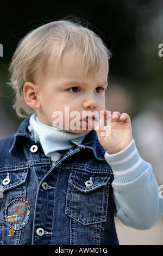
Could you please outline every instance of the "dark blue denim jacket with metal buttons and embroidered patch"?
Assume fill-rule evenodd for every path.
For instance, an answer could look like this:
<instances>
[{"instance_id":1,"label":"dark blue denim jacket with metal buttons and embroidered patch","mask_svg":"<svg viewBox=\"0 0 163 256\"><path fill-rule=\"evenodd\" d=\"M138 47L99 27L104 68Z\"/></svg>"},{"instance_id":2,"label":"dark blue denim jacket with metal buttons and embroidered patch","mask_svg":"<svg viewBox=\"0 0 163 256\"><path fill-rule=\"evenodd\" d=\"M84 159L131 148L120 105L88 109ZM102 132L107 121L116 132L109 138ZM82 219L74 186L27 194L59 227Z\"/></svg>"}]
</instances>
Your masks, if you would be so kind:
<instances>
[{"instance_id":1,"label":"dark blue denim jacket with metal buttons and embroidered patch","mask_svg":"<svg viewBox=\"0 0 163 256\"><path fill-rule=\"evenodd\" d=\"M52 167L28 125L0 141L0 245L118 245L114 177L96 132Z\"/></svg>"}]
</instances>

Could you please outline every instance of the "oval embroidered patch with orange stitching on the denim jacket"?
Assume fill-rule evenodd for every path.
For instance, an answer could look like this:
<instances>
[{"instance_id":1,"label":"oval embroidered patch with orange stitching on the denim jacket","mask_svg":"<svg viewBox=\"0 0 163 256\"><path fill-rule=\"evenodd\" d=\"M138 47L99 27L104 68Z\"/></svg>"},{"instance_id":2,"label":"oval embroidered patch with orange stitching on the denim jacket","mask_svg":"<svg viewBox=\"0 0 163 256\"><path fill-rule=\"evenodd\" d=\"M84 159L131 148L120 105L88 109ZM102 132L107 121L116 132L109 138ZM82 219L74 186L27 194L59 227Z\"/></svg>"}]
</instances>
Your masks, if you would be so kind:
<instances>
[{"instance_id":1,"label":"oval embroidered patch with orange stitching on the denim jacket","mask_svg":"<svg viewBox=\"0 0 163 256\"><path fill-rule=\"evenodd\" d=\"M9 235L14 235L15 230L21 230L27 225L30 209L29 201L24 197L16 198L7 205L5 216L10 227Z\"/></svg>"}]
</instances>

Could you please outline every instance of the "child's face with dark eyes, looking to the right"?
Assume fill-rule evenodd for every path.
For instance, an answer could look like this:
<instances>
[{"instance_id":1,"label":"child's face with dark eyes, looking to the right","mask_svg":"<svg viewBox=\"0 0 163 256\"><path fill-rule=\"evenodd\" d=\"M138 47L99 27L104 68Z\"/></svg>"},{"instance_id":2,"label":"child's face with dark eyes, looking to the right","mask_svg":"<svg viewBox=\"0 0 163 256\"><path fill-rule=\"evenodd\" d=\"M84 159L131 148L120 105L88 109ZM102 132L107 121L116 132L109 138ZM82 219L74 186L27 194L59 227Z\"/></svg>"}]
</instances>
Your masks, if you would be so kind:
<instances>
[{"instance_id":1,"label":"child's face with dark eyes, looking to the right","mask_svg":"<svg viewBox=\"0 0 163 256\"><path fill-rule=\"evenodd\" d=\"M45 75L39 71L35 77L41 106L37 109L39 120L68 132L86 133L91 130L87 115L105 109L108 62L103 59L98 74L92 78L84 75L82 54L64 53L57 70L56 59L52 54Z\"/></svg>"}]
</instances>

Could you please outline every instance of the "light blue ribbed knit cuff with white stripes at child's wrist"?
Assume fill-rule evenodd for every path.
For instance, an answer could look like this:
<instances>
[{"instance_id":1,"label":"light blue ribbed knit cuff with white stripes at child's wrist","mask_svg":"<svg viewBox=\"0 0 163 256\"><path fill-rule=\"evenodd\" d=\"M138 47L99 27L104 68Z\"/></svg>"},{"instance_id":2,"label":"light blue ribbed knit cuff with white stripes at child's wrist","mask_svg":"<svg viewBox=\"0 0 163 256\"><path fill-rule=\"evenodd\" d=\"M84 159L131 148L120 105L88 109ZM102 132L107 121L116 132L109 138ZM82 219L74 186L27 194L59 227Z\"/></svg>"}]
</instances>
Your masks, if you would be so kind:
<instances>
[{"instance_id":1,"label":"light blue ribbed knit cuff with white stripes at child's wrist","mask_svg":"<svg viewBox=\"0 0 163 256\"><path fill-rule=\"evenodd\" d=\"M114 172L114 182L119 184L135 180L148 168L148 163L137 151L134 139L120 153L109 155L106 151L105 159Z\"/></svg>"}]
</instances>

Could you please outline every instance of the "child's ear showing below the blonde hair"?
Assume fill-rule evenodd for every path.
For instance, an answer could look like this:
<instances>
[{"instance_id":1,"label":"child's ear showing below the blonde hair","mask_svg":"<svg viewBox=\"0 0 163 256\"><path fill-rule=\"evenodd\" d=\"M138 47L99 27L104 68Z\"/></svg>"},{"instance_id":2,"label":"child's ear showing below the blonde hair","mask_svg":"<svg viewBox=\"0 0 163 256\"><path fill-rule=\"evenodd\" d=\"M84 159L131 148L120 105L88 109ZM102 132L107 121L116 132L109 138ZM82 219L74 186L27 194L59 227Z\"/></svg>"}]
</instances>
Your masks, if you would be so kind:
<instances>
[{"instance_id":1,"label":"child's ear showing below the blonde hair","mask_svg":"<svg viewBox=\"0 0 163 256\"><path fill-rule=\"evenodd\" d=\"M32 82L27 82L23 87L24 100L29 107L39 109L41 107L37 94L37 87Z\"/></svg>"}]
</instances>

